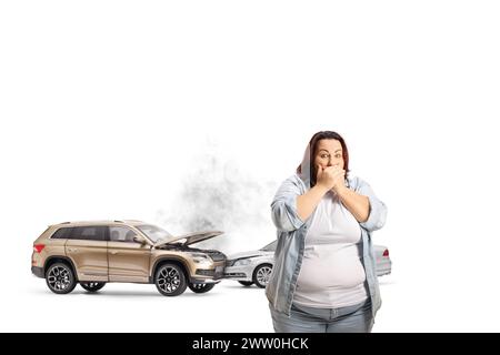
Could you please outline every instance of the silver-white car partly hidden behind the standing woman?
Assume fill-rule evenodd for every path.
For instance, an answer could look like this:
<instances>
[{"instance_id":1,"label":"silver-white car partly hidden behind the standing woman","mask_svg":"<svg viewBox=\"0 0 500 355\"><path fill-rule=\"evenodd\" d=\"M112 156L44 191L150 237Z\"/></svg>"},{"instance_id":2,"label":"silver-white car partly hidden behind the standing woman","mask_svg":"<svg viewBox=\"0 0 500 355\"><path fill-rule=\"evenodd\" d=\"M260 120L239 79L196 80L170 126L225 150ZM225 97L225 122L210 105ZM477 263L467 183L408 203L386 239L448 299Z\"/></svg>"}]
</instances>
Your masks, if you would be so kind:
<instances>
[{"instance_id":1,"label":"silver-white car partly hidden behind the standing woman","mask_svg":"<svg viewBox=\"0 0 500 355\"><path fill-rule=\"evenodd\" d=\"M278 241L274 241L258 251L238 253L228 256L224 270L224 278L236 280L244 286L256 284L264 288L271 276L274 265L274 250ZM377 276L391 273L392 262L389 250L382 245L374 245L377 258Z\"/></svg>"}]
</instances>

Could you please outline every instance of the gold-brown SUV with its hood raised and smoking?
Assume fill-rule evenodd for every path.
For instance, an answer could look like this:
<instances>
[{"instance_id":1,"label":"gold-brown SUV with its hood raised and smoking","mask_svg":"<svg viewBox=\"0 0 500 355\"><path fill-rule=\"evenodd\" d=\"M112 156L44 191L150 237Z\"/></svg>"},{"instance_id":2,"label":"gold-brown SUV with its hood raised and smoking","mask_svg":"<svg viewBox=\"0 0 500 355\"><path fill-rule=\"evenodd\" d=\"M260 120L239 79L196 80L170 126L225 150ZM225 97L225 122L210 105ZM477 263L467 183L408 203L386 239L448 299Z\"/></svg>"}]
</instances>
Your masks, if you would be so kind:
<instances>
[{"instance_id":1,"label":"gold-brown SUV with its hood raised and smoking","mask_svg":"<svg viewBox=\"0 0 500 355\"><path fill-rule=\"evenodd\" d=\"M204 293L223 276L226 255L190 245L220 234L172 236L140 221L66 222L34 241L31 272L57 294L70 293L77 283L96 292L107 282L154 283L166 296L187 286Z\"/></svg>"}]
</instances>

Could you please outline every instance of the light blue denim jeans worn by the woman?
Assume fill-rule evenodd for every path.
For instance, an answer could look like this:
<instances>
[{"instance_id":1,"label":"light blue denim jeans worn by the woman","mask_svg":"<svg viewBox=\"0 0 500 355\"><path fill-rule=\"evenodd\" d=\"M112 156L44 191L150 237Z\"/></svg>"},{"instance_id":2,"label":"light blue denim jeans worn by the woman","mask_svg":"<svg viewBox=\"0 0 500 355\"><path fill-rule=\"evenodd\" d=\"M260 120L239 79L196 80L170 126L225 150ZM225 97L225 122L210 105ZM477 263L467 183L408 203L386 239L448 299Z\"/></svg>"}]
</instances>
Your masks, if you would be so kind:
<instances>
[{"instance_id":1,"label":"light blue denim jeans worn by the woman","mask_svg":"<svg viewBox=\"0 0 500 355\"><path fill-rule=\"evenodd\" d=\"M341 308L313 308L292 304L290 316L269 305L277 333L370 333L371 302Z\"/></svg>"}]
</instances>

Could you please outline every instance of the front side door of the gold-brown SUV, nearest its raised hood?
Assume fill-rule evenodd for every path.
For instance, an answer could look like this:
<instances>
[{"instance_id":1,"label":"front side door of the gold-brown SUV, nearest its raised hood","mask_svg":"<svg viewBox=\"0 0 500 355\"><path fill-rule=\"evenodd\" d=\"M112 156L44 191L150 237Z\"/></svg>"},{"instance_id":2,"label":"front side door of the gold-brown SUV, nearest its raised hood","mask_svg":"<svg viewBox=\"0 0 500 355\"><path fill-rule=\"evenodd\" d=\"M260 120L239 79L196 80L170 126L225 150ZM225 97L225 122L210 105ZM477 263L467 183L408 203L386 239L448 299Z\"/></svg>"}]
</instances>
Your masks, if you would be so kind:
<instances>
[{"instance_id":1,"label":"front side door of the gold-brown SUV, nearest its raised hood","mask_svg":"<svg viewBox=\"0 0 500 355\"><path fill-rule=\"evenodd\" d=\"M143 240L128 226L109 227L109 281L149 282L151 246L136 242L134 237Z\"/></svg>"}]
</instances>

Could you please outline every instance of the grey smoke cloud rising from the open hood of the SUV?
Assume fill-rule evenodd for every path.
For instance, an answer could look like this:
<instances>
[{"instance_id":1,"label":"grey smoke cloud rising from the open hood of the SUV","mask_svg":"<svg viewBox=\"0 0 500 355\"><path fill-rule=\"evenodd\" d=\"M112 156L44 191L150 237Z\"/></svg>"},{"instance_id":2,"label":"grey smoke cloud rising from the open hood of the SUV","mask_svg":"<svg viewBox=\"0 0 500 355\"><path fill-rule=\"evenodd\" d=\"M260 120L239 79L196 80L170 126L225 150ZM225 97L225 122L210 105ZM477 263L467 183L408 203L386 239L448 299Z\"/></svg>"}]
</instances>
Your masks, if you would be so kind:
<instances>
[{"instance_id":1,"label":"grey smoke cloud rising from the open hood of the SUV","mask_svg":"<svg viewBox=\"0 0 500 355\"><path fill-rule=\"evenodd\" d=\"M183 174L172 205L158 212L160 224L177 235L222 231L223 235L193 247L224 253L242 252L273 241L276 230L270 204L278 184L259 181L251 166L243 168L213 148L193 159L196 169Z\"/></svg>"}]
</instances>

